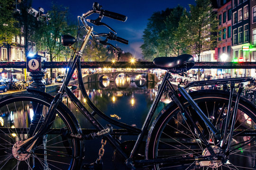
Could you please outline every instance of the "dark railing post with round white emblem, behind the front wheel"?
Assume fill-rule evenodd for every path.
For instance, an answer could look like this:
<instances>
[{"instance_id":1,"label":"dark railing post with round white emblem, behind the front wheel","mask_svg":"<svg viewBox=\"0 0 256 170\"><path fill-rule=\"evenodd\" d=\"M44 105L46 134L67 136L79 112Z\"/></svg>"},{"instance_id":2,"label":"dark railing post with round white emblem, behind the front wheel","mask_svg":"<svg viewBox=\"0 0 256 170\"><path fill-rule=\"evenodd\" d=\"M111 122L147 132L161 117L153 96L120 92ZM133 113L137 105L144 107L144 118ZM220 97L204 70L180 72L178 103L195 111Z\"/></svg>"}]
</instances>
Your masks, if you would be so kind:
<instances>
[{"instance_id":1,"label":"dark railing post with round white emblem, behind the front wheel","mask_svg":"<svg viewBox=\"0 0 256 170\"><path fill-rule=\"evenodd\" d=\"M46 69L42 68L42 62L44 60L46 60L46 58L40 55L33 55L27 57L27 71L30 72L29 76L31 76L33 79L33 82L31 85L29 85L29 88L34 88L42 92L46 91L46 85L42 83L42 79L46 73ZM38 103L32 102L32 107L34 111L34 116L31 120L28 132L30 136L35 135L35 132L41 127L44 121L43 105L38 105ZM40 142L37 145L43 145L44 149L37 149L37 151L35 151L35 154L38 154L38 158L33 159L33 170L48 170L47 157L45 156L47 154L47 135L43 136L42 140L38 141ZM39 159L44 160L44 163L41 163Z\"/></svg>"}]
</instances>

